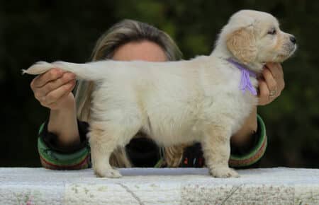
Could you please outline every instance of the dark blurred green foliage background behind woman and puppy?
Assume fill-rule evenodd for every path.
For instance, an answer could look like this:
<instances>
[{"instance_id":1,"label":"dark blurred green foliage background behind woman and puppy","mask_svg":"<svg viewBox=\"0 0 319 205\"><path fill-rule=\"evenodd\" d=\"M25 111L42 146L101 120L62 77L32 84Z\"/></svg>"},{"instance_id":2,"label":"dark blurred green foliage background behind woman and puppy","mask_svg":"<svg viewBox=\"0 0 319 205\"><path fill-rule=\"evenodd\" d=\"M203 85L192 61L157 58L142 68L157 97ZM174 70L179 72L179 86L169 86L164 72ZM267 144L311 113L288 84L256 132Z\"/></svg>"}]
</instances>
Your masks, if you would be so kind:
<instances>
[{"instance_id":1,"label":"dark blurred green foliage background behind woman and puppy","mask_svg":"<svg viewBox=\"0 0 319 205\"><path fill-rule=\"evenodd\" d=\"M272 13L298 39L283 64L286 88L259 107L269 146L262 167L319 168L319 1L4 1L0 0L1 166L39 166L37 130L48 117L21 69L38 60L89 61L98 37L131 18L155 25L189 59L210 54L231 14L248 8Z\"/></svg>"}]
</instances>

